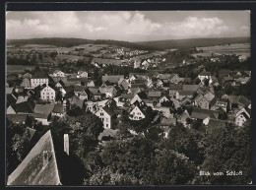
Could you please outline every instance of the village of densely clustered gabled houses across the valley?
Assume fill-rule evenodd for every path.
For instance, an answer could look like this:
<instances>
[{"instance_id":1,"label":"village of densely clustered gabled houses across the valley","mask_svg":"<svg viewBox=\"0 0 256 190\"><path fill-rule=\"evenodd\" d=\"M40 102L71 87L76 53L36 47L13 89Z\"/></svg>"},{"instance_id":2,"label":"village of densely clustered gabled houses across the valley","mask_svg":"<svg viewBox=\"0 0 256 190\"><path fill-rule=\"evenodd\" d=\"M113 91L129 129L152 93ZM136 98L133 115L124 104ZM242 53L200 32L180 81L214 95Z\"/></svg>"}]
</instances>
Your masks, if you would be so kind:
<instances>
[{"instance_id":1,"label":"village of densely clustered gabled houses across the valley","mask_svg":"<svg viewBox=\"0 0 256 190\"><path fill-rule=\"evenodd\" d=\"M134 68L147 70L150 63L159 59L135 61ZM92 64L99 68L121 65L121 62L115 62L95 58ZM146 117L146 110L151 108L158 112L155 120L158 120L165 138L168 137L170 123L180 122L189 128L190 119L203 122L208 130L226 122L243 126L251 117L251 101L243 95L217 96L215 88L224 83L232 86L246 84L250 80L250 72L225 71L224 74L221 81L207 70L196 79L182 78L175 73L105 74L101 77L101 85L96 86L85 70L71 74L60 70L52 73L36 71L33 74L27 71L19 74L19 86L8 87L7 84L7 118L14 123L27 124L33 120L49 125L54 116L65 118L66 115L91 111L101 119L104 129L111 131L106 134L114 136L116 126L113 123L119 122L123 110L128 112L130 120L142 120ZM198 84L191 83L196 80ZM224 118L220 119L223 114Z\"/></svg>"}]
</instances>

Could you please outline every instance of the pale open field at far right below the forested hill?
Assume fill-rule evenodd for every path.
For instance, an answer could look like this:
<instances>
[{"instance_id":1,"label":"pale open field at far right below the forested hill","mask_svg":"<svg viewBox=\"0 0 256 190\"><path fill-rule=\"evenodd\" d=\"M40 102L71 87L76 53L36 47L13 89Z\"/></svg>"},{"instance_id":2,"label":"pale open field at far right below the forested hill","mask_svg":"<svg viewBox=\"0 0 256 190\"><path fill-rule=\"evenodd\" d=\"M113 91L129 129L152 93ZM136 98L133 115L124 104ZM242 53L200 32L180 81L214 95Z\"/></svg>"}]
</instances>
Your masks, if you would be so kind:
<instances>
[{"instance_id":1,"label":"pale open field at far right below the forested hill","mask_svg":"<svg viewBox=\"0 0 256 190\"><path fill-rule=\"evenodd\" d=\"M245 55L246 57L250 56L250 43L234 43L234 44L224 44L224 45L215 45L209 47L197 47L198 50L203 50L202 53L192 54L194 57L202 56L208 57L213 55Z\"/></svg>"}]
</instances>

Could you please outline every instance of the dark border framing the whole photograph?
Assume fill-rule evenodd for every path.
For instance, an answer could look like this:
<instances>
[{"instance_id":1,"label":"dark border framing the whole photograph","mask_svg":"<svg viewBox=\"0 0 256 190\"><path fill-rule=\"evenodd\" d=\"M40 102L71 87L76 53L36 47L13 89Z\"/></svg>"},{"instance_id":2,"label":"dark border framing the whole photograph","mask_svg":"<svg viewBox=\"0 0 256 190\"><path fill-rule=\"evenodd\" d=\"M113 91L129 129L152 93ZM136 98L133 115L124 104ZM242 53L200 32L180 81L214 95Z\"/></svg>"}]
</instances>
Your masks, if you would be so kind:
<instances>
[{"instance_id":1,"label":"dark border framing the whole photograph","mask_svg":"<svg viewBox=\"0 0 256 190\"><path fill-rule=\"evenodd\" d=\"M253 64L256 60L256 55L252 52L256 49L256 1L161 1L161 2L125 2L121 3L118 1L112 2L5 2L4 10L6 11L199 11L199 10L250 10L251 11L251 58L252 58L252 67L251 71L254 73L256 66ZM1 13L2 14L2 13ZM3 11L1 15L1 26L5 26L5 16L6 13ZM6 29L6 28L1 28ZM5 32L1 32L1 57L2 62L5 63ZM6 64L2 64L0 72L2 72L1 76L6 77ZM253 80L253 75L252 75ZM3 88L2 88L3 87ZM5 88L5 84L1 83L2 90ZM255 84L252 85L252 90L255 89ZM1 91L2 99L5 98L5 91ZM252 103L254 92L252 91ZM3 111L2 116L2 127L1 127L1 138L0 145L1 151L5 151L5 102L1 101L1 108ZM253 106L254 107L254 106ZM252 109L252 115L254 115L254 111ZM252 123L254 123L252 121ZM253 127L252 137L256 137L256 129ZM255 188L256 186L256 138L252 138L253 143L253 155L252 155L252 171L253 171L253 184L252 185L169 185L169 186L24 186L22 189L34 189L34 188L86 188L86 189L250 189ZM5 153L0 154L1 166L0 169L2 173L1 177L1 188L17 188L14 186L6 186L6 173L5 173ZM4 164L3 164L4 163ZM2 181L3 180L3 181Z\"/></svg>"}]
</instances>

